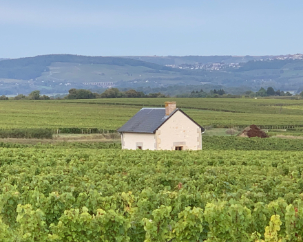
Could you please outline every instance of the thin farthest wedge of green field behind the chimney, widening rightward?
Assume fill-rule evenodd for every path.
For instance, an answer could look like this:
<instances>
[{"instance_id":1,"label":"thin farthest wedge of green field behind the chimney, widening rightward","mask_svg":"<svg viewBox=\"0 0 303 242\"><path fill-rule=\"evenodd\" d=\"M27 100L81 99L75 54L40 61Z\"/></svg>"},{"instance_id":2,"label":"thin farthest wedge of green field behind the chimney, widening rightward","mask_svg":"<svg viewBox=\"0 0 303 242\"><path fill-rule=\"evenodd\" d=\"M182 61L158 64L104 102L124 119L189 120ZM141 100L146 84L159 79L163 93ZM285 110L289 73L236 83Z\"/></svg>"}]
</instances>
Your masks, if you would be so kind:
<instances>
[{"instance_id":1,"label":"thin farthest wedge of green field behind the chimney, widening rightward","mask_svg":"<svg viewBox=\"0 0 303 242\"><path fill-rule=\"evenodd\" d=\"M165 101L174 100L177 106L209 111L267 114L303 114L303 100L264 99L264 98L100 98L91 100L59 100L59 102L88 102L99 104L125 104L137 106L164 107ZM56 100L55 100L56 102ZM282 109L280 108L282 105ZM285 109L285 107L292 107Z\"/></svg>"}]
</instances>

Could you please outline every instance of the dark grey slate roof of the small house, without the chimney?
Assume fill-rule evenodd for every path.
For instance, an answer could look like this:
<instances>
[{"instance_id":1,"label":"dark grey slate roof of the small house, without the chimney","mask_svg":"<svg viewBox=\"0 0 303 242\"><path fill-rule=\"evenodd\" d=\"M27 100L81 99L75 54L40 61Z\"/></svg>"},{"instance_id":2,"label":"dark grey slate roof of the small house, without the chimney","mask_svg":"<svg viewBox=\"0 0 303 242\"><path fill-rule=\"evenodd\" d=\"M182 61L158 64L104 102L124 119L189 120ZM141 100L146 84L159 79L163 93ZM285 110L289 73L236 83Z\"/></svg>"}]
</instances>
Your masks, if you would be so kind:
<instances>
[{"instance_id":1,"label":"dark grey slate roof of the small house, without the chimney","mask_svg":"<svg viewBox=\"0 0 303 242\"><path fill-rule=\"evenodd\" d=\"M118 132L155 133L178 110L184 113L182 110L176 109L169 116L165 116L165 108L143 108L118 129ZM186 113L184 114L187 116ZM187 117L189 118L189 116ZM191 118L189 119L192 120ZM194 120L192 121L194 122ZM200 126L199 124L197 125ZM204 131L202 127L201 129Z\"/></svg>"}]
</instances>

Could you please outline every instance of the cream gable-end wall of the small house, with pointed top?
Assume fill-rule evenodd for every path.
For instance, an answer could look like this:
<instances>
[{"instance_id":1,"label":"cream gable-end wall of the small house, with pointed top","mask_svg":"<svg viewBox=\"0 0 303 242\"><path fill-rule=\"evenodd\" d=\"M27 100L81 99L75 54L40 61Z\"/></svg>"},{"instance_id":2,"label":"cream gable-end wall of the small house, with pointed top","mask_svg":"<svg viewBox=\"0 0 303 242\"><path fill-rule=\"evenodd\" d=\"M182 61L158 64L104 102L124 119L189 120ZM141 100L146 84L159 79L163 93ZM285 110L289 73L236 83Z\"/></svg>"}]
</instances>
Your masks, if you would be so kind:
<instances>
[{"instance_id":1,"label":"cream gable-end wall of the small house, with pointed top","mask_svg":"<svg viewBox=\"0 0 303 242\"><path fill-rule=\"evenodd\" d=\"M183 146L183 150L202 149L201 128L180 111L160 126L156 139L158 150L174 150L176 146Z\"/></svg>"}]
</instances>

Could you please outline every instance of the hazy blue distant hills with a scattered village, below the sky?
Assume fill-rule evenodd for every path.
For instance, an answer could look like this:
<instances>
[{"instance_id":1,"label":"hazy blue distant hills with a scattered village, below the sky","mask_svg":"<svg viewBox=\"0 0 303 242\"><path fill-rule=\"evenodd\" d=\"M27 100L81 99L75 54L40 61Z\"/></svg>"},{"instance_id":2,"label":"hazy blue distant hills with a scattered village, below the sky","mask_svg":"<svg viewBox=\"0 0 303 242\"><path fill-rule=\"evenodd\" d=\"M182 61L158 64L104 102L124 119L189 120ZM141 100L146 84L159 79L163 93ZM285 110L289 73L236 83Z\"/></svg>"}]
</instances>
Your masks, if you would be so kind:
<instances>
[{"instance_id":1,"label":"hazy blue distant hills with a scattered village, below the sky","mask_svg":"<svg viewBox=\"0 0 303 242\"><path fill-rule=\"evenodd\" d=\"M97 89L171 85L218 85L258 90L303 89L302 55L293 56L77 56L51 54L0 61L0 95L65 93ZM170 65L170 66L166 66ZM189 87L190 88L190 87Z\"/></svg>"}]
</instances>

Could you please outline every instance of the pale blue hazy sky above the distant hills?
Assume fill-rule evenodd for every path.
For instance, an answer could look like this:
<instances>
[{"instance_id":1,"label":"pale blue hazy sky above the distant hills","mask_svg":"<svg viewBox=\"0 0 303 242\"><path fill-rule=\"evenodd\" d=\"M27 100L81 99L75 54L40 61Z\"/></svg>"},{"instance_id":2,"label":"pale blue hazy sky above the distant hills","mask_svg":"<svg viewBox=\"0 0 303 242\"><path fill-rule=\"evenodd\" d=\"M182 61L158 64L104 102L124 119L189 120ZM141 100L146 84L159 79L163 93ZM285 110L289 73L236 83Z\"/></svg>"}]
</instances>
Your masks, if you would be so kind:
<instances>
[{"instance_id":1,"label":"pale blue hazy sky above the distant hills","mask_svg":"<svg viewBox=\"0 0 303 242\"><path fill-rule=\"evenodd\" d=\"M302 0L0 0L0 58L303 53Z\"/></svg>"}]
</instances>

